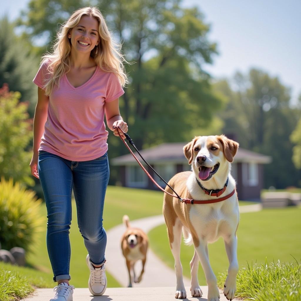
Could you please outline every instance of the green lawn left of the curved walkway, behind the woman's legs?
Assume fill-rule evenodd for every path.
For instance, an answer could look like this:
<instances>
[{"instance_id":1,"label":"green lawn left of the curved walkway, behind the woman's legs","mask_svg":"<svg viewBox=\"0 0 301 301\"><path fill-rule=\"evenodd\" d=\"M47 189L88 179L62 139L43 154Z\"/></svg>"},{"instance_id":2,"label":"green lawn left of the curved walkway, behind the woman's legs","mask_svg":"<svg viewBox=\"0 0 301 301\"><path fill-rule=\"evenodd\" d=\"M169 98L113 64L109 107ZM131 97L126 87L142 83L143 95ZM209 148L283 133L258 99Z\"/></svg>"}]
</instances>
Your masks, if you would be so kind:
<instances>
[{"instance_id":1,"label":"green lawn left of the curved walkway, behind the woman's legs","mask_svg":"<svg viewBox=\"0 0 301 301\"><path fill-rule=\"evenodd\" d=\"M110 228L122 223L122 217L127 214L130 220L162 214L163 193L158 191L146 191L109 186L105 199L104 228ZM87 287L89 271L85 258L87 250L79 233L76 217L76 206L72 202L72 224L70 229L71 261L70 261L70 284L75 287ZM35 253L29 254L27 261L30 265L48 273L52 279L53 274L48 258L46 247L46 206L41 206L41 215L45 216L44 230L39 233L39 243L34 247ZM120 284L109 274L108 287L119 287ZM52 282L51 286L54 286Z\"/></svg>"}]
</instances>

